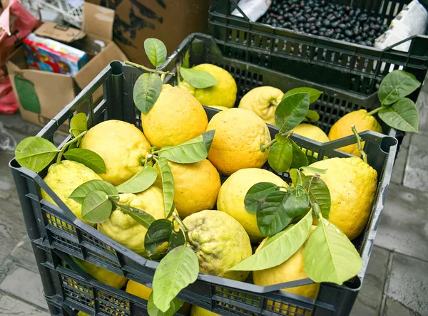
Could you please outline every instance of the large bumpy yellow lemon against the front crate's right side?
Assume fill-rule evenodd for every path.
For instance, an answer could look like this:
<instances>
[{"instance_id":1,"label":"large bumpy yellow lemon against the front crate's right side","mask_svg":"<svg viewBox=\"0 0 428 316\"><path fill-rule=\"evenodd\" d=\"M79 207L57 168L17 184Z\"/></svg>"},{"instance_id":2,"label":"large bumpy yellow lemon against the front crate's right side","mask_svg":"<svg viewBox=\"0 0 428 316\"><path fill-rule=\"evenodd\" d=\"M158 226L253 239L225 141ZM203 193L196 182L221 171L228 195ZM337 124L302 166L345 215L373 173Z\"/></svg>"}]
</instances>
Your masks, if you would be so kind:
<instances>
[{"instance_id":1,"label":"large bumpy yellow lemon against the front crate's right side","mask_svg":"<svg viewBox=\"0 0 428 316\"><path fill-rule=\"evenodd\" d=\"M310 167L327 169L320 175L330 191L331 206L327 219L350 240L356 238L369 221L377 186L376 170L358 157L330 158Z\"/></svg>"}]
</instances>

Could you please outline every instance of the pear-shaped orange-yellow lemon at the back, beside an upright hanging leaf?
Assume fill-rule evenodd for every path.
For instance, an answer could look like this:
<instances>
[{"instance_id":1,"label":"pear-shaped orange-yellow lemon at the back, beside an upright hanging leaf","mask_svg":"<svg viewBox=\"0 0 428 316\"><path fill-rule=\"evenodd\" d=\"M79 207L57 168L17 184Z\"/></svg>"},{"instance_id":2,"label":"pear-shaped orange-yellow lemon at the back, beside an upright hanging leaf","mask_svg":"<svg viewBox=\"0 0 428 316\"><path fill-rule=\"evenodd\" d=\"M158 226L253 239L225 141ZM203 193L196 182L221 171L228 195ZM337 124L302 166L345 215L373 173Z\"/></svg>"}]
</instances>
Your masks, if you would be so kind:
<instances>
[{"instance_id":1,"label":"pear-shaped orange-yellow lemon at the back, beside an upright hanging leaf","mask_svg":"<svg viewBox=\"0 0 428 316\"><path fill-rule=\"evenodd\" d=\"M141 124L148 141L160 149L198 137L205 132L208 118L188 91L163 85L155 105L146 115L141 113Z\"/></svg>"}]
</instances>

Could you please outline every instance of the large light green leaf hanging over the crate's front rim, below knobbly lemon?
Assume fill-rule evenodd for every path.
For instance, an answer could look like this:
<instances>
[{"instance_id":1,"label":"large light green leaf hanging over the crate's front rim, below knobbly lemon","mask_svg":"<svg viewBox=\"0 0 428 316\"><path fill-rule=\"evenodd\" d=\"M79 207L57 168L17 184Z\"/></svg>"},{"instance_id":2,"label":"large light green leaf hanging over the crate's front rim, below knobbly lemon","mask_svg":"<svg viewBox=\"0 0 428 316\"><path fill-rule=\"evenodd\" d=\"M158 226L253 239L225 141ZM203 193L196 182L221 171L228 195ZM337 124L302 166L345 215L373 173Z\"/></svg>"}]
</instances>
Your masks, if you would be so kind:
<instances>
[{"instance_id":1,"label":"large light green leaf hanging over the crate's front rim, below knobbly lemon","mask_svg":"<svg viewBox=\"0 0 428 316\"><path fill-rule=\"evenodd\" d=\"M170 251L161 260L153 277L153 302L159 310L166 312L170 302L180 290L198 278L198 257L188 246Z\"/></svg>"}]
</instances>

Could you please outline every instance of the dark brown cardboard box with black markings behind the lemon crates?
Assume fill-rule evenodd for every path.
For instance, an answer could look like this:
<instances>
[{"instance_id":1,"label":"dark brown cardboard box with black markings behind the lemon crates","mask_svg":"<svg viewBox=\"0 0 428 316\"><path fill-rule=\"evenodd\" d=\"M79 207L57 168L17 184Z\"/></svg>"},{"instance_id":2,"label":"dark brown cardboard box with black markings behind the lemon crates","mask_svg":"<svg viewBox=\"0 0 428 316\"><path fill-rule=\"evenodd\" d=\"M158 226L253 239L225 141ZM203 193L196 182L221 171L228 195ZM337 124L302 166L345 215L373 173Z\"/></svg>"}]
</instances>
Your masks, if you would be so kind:
<instances>
[{"instance_id":1,"label":"dark brown cardboard box with black markings behind the lemon crates","mask_svg":"<svg viewBox=\"0 0 428 316\"><path fill-rule=\"evenodd\" d=\"M86 0L116 11L113 39L134 63L150 66L144 40L158 38L168 56L190 33L208 30L209 0Z\"/></svg>"}]
</instances>

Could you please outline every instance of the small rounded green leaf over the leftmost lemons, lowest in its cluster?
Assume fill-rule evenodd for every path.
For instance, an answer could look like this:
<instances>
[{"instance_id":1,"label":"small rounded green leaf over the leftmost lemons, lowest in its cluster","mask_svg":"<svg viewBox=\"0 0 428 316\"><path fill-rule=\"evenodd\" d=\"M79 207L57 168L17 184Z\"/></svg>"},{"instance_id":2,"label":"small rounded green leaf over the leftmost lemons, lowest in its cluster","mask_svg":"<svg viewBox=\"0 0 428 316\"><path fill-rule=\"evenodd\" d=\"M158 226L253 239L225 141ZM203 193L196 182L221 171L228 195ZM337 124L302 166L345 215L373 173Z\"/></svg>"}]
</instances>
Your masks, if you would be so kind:
<instances>
[{"instance_id":1,"label":"small rounded green leaf over the leftmost lemons, lowest in its cluster","mask_svg":"<svg viewBox=\"0 0 428 316\"><path fill-rule=\"evenodd\" d=\"M103 191L90 192L82 204L82 218L89 223L102 223L111 214L111 201Z\"/></svg>"}]
</instances>

